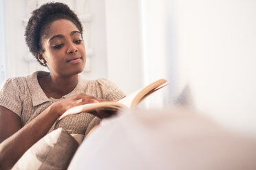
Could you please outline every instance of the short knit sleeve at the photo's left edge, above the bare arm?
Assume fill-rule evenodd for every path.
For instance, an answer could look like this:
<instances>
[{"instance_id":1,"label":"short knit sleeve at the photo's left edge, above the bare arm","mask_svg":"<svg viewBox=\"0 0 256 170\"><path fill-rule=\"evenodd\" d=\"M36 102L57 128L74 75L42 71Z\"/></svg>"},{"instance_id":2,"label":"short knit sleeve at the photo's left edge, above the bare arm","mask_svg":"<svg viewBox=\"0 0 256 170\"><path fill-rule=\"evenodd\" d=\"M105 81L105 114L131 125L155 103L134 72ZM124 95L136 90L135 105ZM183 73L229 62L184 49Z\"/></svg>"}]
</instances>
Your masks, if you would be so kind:
<instances>
[{"instance_id":1,"label":"short knit sleeve at the photo's left edge, above the bare arm","mask_svg":"<svg viewBox=\"0 0 256 170\"><path fill-rule=\"evenodd\" d=\"M1 85L0 106L8 108L21 117L21 88L17 78L10 78Z\"/></svg>"}]
</instances>

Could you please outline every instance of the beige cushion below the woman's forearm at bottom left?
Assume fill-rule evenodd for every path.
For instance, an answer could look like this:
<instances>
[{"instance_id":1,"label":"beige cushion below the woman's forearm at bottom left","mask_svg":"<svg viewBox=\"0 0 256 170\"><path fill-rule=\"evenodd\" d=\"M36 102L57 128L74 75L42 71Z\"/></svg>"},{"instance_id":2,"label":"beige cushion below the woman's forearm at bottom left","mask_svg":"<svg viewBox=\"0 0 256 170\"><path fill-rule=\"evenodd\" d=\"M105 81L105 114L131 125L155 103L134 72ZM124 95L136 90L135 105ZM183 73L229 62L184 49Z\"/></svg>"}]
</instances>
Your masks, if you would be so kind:
<instances>
[{"instance_id":1,"label":"beige cushion below the woman's forearm at bottom left","mask_svg":"<svg viewBox=\"0 0 256 170\"><path fill-rule=\"evenodd\" d=\"M30 147L13 169L67 169L77 148L77 141L58 128Z\"/></svg>"}]
</instances>

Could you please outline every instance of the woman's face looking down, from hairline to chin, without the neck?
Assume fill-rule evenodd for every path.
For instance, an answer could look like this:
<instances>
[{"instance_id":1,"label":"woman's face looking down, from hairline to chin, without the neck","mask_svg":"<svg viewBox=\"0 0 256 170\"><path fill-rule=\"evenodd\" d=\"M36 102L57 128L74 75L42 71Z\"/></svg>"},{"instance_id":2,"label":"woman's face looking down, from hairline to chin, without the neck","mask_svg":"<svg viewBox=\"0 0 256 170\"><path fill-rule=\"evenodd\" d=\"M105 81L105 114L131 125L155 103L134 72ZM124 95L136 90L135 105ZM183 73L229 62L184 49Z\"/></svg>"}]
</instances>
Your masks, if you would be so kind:
<instances>
[{"instance_id":1,"label":"woman's face looking down, from hairline to chin, without the neck","mask_svg":"<svg viewBox=\"0 0 256 170\"><path fill-rule=\"evenodd\" d=\"M69 76L85 67L85 45L79 29L67 19L53 21L43 38L44 58L52 75ZM42 58L39 56L39 60Z\"/></svg>"}]
</instances>

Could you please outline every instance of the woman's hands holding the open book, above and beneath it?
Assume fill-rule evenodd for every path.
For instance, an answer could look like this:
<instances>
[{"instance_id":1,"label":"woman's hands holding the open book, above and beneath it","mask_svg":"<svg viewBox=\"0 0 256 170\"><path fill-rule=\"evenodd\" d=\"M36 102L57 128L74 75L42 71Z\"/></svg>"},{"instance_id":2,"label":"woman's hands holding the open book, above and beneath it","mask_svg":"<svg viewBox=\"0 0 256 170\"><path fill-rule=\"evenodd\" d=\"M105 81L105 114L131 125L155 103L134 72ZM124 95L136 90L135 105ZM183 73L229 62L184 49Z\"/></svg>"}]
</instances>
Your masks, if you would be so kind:
<instances>
[{"instance_id":1,"label":"woman's hands holding the open book, above and beneath it","mask_svg":"<svg viewBox=\"0 0 256 170\"><path fill-rule=\"evenodd\" d=\"M65 111L69 110L70 108L73 108L74 106L99 103L103 101L109 100L98 99L96 97L92 97L81 93L79 95L74 95L72 97L56 101L54 104L52 104L52 108L54 109L54 112L58 114L58 116L61 116ZM105 117L110 117L111 115L116 114L116 111L95 110L89 113L94 114L96 117L103 119Z\"/></svg>"}]
</instances>

